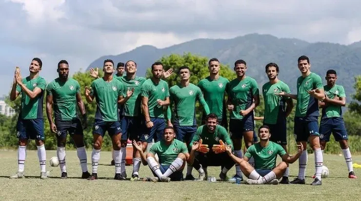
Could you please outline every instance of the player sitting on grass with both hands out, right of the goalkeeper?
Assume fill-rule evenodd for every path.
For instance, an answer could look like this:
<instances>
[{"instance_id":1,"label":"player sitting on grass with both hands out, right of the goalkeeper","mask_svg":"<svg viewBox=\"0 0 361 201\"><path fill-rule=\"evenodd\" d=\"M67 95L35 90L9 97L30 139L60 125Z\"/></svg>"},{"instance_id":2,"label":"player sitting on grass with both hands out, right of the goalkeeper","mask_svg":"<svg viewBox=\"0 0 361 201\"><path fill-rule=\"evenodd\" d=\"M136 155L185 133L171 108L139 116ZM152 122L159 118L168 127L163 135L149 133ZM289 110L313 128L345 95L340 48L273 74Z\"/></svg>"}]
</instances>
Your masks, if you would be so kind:
<instances>
[{"instance_id":1,"label":"player sitting on grass with both hands out, right of the goalkeeper","mask_svg":"<svg viewBox=\"0 0 361 201\"><path fill-rule=\"evenodd\" d=\"M240 165L243 174L249 178L247 184L278 184L278 179L286 171L286 163L294 163L301 156L303 146L297 145L297 154L290 156L281 145L269 141L271 137L269 127L261 126L258 132L260 142L248 147L243 159L234 156L229 146L226 146L226 151ZM276 166L277 154L281 156L282 162ZM255 168L247 163L252 156L255 159Z\"/></svg>"}]
</instances>

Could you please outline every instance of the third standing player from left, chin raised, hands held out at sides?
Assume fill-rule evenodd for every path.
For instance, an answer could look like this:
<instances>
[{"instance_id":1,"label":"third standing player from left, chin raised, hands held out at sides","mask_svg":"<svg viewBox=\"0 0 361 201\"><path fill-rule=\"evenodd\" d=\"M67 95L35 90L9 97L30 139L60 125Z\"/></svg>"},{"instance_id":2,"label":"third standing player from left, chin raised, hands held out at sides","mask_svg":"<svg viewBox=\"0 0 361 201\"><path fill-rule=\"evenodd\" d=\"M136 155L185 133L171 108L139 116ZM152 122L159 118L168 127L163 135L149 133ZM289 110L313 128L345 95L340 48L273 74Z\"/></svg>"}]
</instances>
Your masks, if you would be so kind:
<instances>
[{"instance_id":1,"label":"third standing player from left, chin raised, hands held out at sides","mask_svg":"<svg viewBox=\"0 0 361 201\"><path fill-rule=\"evenodd\" d=\"M97 102L97 111L95 113L94 128L93 128L93 152L92 152L92 166L93 172L89 180L98 179L98 163L100 159L100 150L103 142L105 132L108 131L112 139L115 160L115 180L121 180L120 162L120 138L121 126L118 112L118 103L124 104L123 85L117 80L113 79L114 63L110 59L104 60L103 67L104 76L96 79L91 84L91 89L85 87L85 97L88 103L92 103L94 98Z\"/></svg>"}]
</instances>

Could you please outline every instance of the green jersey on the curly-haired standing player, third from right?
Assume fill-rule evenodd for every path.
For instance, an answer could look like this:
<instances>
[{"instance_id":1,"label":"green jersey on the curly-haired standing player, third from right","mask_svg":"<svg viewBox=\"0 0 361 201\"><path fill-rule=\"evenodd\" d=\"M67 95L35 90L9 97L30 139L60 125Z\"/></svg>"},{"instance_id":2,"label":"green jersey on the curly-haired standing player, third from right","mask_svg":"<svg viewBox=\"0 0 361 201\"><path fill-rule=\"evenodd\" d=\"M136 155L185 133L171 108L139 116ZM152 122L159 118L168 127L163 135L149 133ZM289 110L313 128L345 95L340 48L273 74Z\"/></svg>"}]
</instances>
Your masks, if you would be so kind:
<instances>
[{"instance_id":1,"label":"green jersey on the curly-haired standing player, third from right","mask_svg":"<svg viewBox=\"0 0 361 201\"><path fill-rule=\"evenodd\" d=\"M264 99L264 120L266 124L276 124L278 119L286 118L286 99L289 97L283 97L276 95L284 91L290 93L290 88L284 82L279 80L275 84L267 82L262 87L263 99Z\"/></svg>"}]
</instances>

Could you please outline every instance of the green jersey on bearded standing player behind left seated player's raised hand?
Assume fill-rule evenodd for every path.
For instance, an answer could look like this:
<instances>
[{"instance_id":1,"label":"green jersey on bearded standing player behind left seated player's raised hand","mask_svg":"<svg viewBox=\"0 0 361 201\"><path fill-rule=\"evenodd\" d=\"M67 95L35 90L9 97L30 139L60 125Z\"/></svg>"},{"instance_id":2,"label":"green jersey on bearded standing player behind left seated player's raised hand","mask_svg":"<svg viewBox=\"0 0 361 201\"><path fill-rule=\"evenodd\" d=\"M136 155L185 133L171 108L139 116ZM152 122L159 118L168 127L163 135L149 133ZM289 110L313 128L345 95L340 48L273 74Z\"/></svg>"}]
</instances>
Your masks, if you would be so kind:
<instances>
[{"instance_id":1,"label":"green jersey on bearded standing player behind left seated player's raised hand","mask_svg":"<svg viewBox=\"0 0 361 201\"><path fill-rule=\"evenodd\" d=\"M158 106L157 100L165 100L169 97L168 83L160 80L158 84L152 79L147 79L141 86L141 96L148 98L148 110L150 117L164 118L163 106Z\"/></svg>"}]
</instances>

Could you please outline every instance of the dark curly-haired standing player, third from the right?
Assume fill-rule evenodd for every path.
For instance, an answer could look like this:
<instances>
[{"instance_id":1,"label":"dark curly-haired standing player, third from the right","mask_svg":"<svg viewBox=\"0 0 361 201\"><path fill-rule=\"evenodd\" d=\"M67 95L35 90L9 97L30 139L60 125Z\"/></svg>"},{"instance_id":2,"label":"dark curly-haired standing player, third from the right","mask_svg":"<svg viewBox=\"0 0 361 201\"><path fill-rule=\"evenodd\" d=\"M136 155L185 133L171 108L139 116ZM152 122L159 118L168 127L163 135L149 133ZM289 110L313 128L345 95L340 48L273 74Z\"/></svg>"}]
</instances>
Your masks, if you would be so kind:
<instances>
[{"instance_id":1,"label":"dark curly-haired standing player, third from the right","mask_svg":"<svg viewBox=\"0 0 361 201\"><path fill-rule=\"evenodd\" d=\"M287 152L287 124L286 118L293 109L293 101L290 97L277 95L281 91L290 93L290 88L278 79L280 73L276 63L269 63L265 67L269 82L262 86L264 99L264 119L263 125L270 128L272 135L270 140L281 145ZM287 104L287 107L286 107ZM284 172L280 183L288 184L289 168Z\"/></svg>"}]
</instances>

